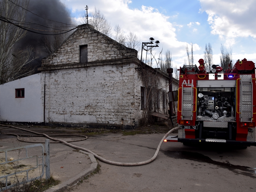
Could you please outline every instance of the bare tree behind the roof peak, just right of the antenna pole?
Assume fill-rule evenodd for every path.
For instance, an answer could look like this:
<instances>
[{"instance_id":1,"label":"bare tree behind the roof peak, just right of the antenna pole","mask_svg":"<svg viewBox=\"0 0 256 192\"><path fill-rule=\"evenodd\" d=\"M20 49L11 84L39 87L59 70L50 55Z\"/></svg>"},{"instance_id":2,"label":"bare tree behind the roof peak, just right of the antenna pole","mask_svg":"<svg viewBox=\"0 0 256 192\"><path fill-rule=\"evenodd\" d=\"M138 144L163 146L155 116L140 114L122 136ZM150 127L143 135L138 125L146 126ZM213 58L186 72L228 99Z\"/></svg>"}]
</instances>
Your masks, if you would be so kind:
<instances>
[{"instance_id":1,"label":"bare tree behind the roof peak, just right of the antenna pole","mask_svg":"<svg viewBox=\"0 0 256 192\"><path fill-rule=\"evenodd\" d=\"M82 18L83 24L87 23L86 16L87 15L85 13L85 17ZM102 14L99 9L97 10L96 7L94 7L94 11L91 13L90 24L94 26L97 31L103 33L104 35L109 37L111 36L112 26L107 22L104 14Z\"/></svg>"}]
</instances>

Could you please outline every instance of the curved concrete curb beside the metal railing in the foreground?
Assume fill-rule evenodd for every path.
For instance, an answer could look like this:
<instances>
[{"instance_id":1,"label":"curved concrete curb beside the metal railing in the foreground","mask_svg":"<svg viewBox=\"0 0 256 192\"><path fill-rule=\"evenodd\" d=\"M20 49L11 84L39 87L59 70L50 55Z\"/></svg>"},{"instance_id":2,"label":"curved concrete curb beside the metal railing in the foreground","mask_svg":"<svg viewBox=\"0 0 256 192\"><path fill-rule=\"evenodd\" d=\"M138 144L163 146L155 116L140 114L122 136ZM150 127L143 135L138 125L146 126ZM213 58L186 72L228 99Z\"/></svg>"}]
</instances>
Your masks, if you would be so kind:
<instances>
[{"instance_id":1,"label":"curved concrete curb beside the metal railing in the foreground","mask_svg":"<svg viewBox=\"0 0 256 192\"><path fill-rule=\"evenodd\" d=\"M82 173L77 174L75 177L68 179L67 181L61 183L60 185L56 185L56 186L49 188L43 192L62 192L64 190L66 190L67 188L77 185L77 183L79 181L83 180L84 177L86 177L87 175L89 175L90 173L95 171L95 169L97 168L99 163L96 161L93 154L85 152L85 151L81 151L81 150L79 150L79 152L85 153L90 157L90 161L92 162L90 168L83 171Z\"/></svg>"}]
</instances>

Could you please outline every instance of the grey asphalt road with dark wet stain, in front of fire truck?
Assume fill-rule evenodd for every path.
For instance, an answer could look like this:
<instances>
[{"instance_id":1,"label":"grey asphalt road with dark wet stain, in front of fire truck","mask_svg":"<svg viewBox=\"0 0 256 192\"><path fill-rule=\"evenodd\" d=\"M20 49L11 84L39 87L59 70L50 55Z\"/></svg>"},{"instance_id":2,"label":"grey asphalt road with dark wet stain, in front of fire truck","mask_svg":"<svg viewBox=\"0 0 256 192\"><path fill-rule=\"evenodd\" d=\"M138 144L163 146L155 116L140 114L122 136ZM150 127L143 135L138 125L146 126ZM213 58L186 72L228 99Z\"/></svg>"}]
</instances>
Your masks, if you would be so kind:
<instances>
[{"instance_id":1,"label":"grey asphalt road with dark wet stain, in front of fire truck","mask_svg":"<svg viewBox=\"0 0 256 192\"><path fill-rule=\"evenodd\" d=\"M150 159L164 134L89 137L82 147L119 162ZM256 147L184 146L163 143L144 166L113 166L99 161L95 174L70 191L256 191Z\"/></svg>"}]
</instances>

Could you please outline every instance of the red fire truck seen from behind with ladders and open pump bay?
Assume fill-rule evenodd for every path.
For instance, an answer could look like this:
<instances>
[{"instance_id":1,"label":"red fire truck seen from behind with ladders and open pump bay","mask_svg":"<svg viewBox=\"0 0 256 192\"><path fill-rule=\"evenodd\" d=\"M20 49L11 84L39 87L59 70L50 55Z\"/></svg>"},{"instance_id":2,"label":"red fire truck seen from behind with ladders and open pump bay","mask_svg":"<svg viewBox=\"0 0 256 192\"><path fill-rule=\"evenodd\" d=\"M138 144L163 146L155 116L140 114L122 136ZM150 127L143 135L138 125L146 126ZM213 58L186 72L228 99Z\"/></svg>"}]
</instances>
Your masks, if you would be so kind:
<instances>
[{"instance_id":1,"label":"red fire truck seen from behind with ladders and open pump bay","mask_svg":"<svg viewBox=\"0 0 256 192\"><path fill-rule=\"evenodd\" d=\"M198 62L179 69L179 130L165 141L256 146L255 63L243 59L232 69L212 65L207 72L204 60Z\"/></svg>"}]
</instances>

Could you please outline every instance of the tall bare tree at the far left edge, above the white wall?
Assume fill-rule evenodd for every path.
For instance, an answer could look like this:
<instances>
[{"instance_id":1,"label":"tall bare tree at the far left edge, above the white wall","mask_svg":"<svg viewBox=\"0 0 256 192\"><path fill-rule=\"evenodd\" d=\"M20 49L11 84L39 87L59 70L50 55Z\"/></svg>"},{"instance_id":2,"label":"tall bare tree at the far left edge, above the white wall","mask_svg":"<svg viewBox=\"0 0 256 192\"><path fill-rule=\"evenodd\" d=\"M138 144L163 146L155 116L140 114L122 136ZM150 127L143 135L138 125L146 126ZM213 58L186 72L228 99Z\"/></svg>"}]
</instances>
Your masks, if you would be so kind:
<instances>
[{"instance_id":1,"label":"tall bare tree at the far left edge, above the white wall","mask_svg":"<svg viewBox=\"0 0 256 192\"><path fill-rule=\"evenodd\" d=\"M13 1L24 8L29 4L29 0ZM10 23L15 20L24 26L26 10L21 7L11 1L0 1L0 84L29 75L32 71L28 67L29 62L35 59L32 48L15 49L15 43L26 35L26 31Z\"/></svg>"}]
</instances>

